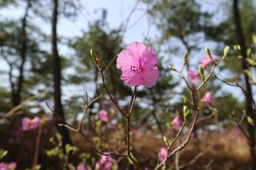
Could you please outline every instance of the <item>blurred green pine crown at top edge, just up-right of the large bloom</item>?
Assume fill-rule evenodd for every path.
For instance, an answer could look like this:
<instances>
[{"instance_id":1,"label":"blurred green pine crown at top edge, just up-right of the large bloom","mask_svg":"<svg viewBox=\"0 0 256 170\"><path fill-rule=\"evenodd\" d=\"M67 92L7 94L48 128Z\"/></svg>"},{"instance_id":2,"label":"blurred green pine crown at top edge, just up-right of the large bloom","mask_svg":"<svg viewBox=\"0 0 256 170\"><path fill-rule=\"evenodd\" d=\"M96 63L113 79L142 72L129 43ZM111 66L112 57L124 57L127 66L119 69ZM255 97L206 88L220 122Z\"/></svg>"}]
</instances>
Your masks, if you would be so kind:
<instances>
[{"instance_id":1,"label":"blurred green pine crown at top edge, just up-right of the large bloom","mask_svg":"<svg viewBox=\"0 0 256 170\"><path fill-rule=\"evenodd\" d=\"M170 38L178 38L186 47L186 50L196 50L198 38L193 35L200 33L206 25L210 15L201 11L201 6L196 1L153 1L152 8L149 11L154 18L156 26L161 31L161 40L166 41ZM180 47L178 47L180 48ZM173 43L170 49L175 51L176 47Z\"/></svg>"}]
</instances>

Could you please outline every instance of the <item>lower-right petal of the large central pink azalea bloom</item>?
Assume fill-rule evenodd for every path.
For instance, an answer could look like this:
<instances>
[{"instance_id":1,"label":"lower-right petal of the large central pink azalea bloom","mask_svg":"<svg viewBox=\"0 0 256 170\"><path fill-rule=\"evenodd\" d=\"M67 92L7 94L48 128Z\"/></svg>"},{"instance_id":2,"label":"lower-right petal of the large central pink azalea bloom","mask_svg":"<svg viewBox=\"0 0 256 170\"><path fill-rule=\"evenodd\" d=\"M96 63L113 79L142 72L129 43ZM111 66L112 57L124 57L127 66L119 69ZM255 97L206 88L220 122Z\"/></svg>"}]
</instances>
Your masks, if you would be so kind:
<instances>
[{"instance_id":1,"label":"lower-right petal of the large central pink azalea bloom","mask_svg":"<svg viewBox=\"0 0 256 170\"><path fill-rule=\"evenodd\" d=\"M156 84L156 81L159 78L159 69L157 69L156 66L153 68L144 67L142 71L142 77L143 77L143 85L147 88L151 88Z\"/></svg>"}]
</instances>

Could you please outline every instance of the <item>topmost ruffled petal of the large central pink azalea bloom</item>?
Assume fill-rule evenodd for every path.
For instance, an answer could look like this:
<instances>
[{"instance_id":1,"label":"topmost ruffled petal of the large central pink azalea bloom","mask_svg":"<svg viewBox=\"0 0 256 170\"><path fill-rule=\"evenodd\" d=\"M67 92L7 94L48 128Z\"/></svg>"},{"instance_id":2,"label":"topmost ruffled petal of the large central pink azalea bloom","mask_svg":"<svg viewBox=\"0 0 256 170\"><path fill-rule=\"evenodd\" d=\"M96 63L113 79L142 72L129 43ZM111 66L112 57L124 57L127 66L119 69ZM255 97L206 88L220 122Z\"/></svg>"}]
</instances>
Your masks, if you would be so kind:
<instances>
[{"instance_id":1,"label":"topmost ruffled petal of the large central pink azalea bloom","mask_svg":"<svg viewBox=\"0 0 256 170\"><path fill-rule=\"evenodd\" d=\"M132 55L132 57L135 58L140 58L144 49L146 49L146 45L144 45L142 42L132 42L127 45L129 55Z\"/></svg>"}]
</instances>

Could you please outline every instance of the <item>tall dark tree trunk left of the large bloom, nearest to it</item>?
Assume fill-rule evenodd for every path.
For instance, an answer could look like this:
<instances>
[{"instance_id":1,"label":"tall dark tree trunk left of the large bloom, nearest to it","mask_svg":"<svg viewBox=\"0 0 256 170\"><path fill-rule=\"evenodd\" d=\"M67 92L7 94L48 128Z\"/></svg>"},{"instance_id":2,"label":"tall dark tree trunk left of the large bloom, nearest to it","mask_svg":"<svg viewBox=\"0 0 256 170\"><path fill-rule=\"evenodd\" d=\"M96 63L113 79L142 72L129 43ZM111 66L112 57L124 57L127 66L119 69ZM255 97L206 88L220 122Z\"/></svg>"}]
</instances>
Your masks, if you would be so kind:
<instances>
[{"instance_id":1,"label":"tall dark tree trunk left of the large bloom, nearest to it","mask_svg":"<svg viewBox=\"0 0 256 170\"><path fill-rule=\"evenodd\" d=\"M58 55L57 47L57 21L58 21L58 0L53 0L53 15L52 15L52 55L53 55L53 83L54 83L54 115L57 121L56 125L60 135L63 136L63 146L70 144L70 137L68 136L68 130L63 126L58 126L58 123L65 121L62 103L61 103L61 71L60 71L60 57Z\"/></svg>"}]
</instances>

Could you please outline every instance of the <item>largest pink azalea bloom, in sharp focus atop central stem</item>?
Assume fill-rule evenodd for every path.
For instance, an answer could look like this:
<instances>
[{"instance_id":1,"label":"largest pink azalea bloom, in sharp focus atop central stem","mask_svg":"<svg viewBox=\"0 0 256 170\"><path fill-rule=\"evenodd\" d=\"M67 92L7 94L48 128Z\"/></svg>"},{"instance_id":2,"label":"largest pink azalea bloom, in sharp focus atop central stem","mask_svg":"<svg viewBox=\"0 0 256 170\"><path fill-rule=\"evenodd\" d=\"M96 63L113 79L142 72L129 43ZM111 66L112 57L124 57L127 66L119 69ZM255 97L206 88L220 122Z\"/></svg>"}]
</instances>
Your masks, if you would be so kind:
<instances>
[{"instance_id":1,"label":"largest pink azalea bloom, in sharp focus atop central stem","mask_svg":"<svg viewBox=\"0 0 256 170\"><path fill-rule=\"evenodd\" d=\"M142 42L132 42L117 55L117 69L122 70L121 79L130 86L144 85L151 88L159 78L156 55L151 47Z\"/></svg>"}]
</instances>

